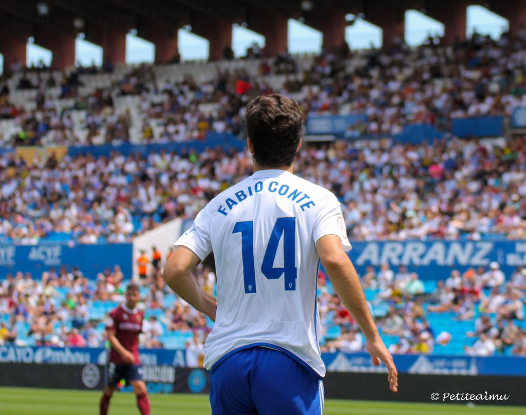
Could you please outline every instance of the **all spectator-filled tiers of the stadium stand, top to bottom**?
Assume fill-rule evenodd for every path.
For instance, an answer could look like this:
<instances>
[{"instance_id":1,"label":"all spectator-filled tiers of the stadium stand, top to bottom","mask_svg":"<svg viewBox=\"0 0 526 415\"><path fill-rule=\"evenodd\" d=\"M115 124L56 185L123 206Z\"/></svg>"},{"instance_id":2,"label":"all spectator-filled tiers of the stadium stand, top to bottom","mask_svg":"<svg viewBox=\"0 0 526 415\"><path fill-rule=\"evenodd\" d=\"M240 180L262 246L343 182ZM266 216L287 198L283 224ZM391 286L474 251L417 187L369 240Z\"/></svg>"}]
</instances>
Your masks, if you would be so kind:
<instances>
[{"instance_id":1,"label":"all spectator-filled tiers of the stadium stand, top to bottom","mask_svg":"<svg viewBox=\"0 0 526 415\"><path fill-rule=\"evenodd\" d=\"M401 44L355 55L117 65L96 74L19 72L0 87L3 147L113 144L115 150L34 164L3 157L0 237L20 244L118 243L163 221L193 218L221 189L250 174L246 151L141 157L125 156L118 146L205 140L210 132L244 138L244 105L274 91L299 100L309 115L365 114L345 140L306 145L295 166L340 198L351 239L524 239L526 139L439 131L450 132L454 119L509 117L526 104L525 40L474 36L450 47ZM436 135L419 144L392 139L416 124L432 126ZM200 268L196 278L213 292L208 275ZM453 270L438 282L420 277L387 265L362 276L392 352L526 355L522 267L513 275L492 263ZM0 342L103 345L104 316L122 300L127 278L115 270L84 276L65 268L6 276ZM319 280L323 350L363 350L355 322L325 275ZM158 274L141 297L145 347L184 347L210 330L210 321L169 293Z\"/></svg>"}]
</instances>

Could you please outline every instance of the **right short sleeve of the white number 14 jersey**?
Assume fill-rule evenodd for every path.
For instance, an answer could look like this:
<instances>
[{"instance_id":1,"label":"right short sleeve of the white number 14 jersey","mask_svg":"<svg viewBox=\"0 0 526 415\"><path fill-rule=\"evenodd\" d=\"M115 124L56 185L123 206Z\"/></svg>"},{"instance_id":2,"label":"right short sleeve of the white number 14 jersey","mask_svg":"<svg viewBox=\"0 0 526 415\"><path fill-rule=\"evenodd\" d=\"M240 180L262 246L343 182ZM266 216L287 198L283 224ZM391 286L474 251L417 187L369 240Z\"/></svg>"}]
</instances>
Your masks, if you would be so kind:
<instances>
[{"instance_id":1,"label":"right short sleeve of the white number 14 jersey","mask_svg":"<svg viewBox=\"0 0 526 415\"><path fill-rule=\"evenodd\" d=\"M318 242L322 236L336 235L340 237L343 249L351 250L351 244L347 238L347 227L343 214L341 212L341 204L333 194L328 194L325 198L326 202L318 211L318 215L314 222L312 230L312 237L314 242Z\"/></svg>"}]
</instances>

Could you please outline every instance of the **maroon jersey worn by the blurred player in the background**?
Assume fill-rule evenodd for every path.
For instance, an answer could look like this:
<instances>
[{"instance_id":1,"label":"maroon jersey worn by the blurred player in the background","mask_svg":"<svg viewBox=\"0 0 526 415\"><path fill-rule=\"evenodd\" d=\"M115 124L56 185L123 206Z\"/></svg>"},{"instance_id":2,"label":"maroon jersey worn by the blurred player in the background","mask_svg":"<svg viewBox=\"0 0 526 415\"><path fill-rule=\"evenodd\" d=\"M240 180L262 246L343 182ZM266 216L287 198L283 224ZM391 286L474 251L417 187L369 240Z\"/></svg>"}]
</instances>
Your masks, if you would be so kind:
<instances>
[{"instance_id":1,"label":"maroon jersey worn by the blurred player in the background","mask_svg":"<svg viewBox=\"0 0 526 415\"><path fill-rule=\"evenodd\" d=\"M140 363L139 333L143 331L144 313L137 309L130 310L121 305L109 313L106 318L106 329L115 330L115 336L123 347L135 356L134 364ZM109 361L118 365L125 364L122 357L113 348Z\"/></svg>"}]
</instances>

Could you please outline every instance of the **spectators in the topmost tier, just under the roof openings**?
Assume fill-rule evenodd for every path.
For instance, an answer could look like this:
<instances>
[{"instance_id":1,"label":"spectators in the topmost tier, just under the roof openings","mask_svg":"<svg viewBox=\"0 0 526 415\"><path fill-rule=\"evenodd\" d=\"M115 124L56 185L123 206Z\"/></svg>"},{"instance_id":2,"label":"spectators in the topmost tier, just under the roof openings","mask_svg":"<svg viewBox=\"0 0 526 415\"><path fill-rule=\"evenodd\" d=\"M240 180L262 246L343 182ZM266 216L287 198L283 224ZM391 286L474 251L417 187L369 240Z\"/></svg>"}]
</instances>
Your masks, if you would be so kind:
<instances>
[{"instance_id":1,"label":"spectators in the topmost tier, just under the roof openings","mask_svg":"<svg viewBox=\"0 0 526 415\"><path fill-rule=\"evenodd\" d=\"M130 139L130 114L114 106L114 98L142 96L140 112L146 120L144 141L178 141L203 138L207 131L245 134L244 106L260 94L297 94L305 114L359 112L365 122L351 126L352 137L371 134L396 135L408 124L427 123L447 131L451 118L506 115L526 105L526 34L504 33L497 41L475 33L469 41L444 47L429 43L411 49L403 41L385 50L355 54L348 48L323 51L310 67L298 68L298 57L282 53L262 60L256 75L242 67L217 69L209 79L196 82L192 76L176 82L156 75L151 66L131 68L107 88L83 91L76 72L64 75L60 97L74 98L72 109L85 109L87 142L107 126L103 140ZM174 69L175 71L177 69ZM196 69L197 70L197 69ZM281 87L268 82L270 75L290 76ZM19 88L36 88L37 108L26 113L9 104L9 88L0 87L0 114L16 118L23 131L18 144L39 144L53 131L56 144L78 143L67 112L57 112L55 100L46 96L56 87L53 77L40 75L35 83L23 76ZM304 89L307 88L307 89ZM163 102L153 97L166 94ZM294 95L296 96L296 95ZM199 104L215 103L220 109L208 114ZM154 136L150 120L164 126Z\"/></svg>"}]
</instances>

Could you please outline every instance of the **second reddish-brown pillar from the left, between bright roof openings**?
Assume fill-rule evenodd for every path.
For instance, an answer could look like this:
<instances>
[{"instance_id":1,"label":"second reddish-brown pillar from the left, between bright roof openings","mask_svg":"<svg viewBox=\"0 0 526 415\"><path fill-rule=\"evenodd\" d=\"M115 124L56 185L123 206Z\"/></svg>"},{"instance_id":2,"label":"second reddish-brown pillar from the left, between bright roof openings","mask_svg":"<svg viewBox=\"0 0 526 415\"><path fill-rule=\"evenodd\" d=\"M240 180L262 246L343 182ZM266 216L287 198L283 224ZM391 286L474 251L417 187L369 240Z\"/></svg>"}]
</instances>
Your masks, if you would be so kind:
<instances>
[{"instance_id":1,"label":"second reddish-brown pillar from the left, between bright roof openings","mask_svg":"<svg viewBox=\"0 0 526 415\"><path fill-rule=\"evenodd\" d=\"M41 26L35 43L53 53L51 69L62 70L75 65L75 37L50 26Z\"/></svg>"}]
</instances>

